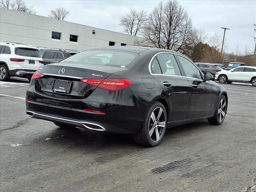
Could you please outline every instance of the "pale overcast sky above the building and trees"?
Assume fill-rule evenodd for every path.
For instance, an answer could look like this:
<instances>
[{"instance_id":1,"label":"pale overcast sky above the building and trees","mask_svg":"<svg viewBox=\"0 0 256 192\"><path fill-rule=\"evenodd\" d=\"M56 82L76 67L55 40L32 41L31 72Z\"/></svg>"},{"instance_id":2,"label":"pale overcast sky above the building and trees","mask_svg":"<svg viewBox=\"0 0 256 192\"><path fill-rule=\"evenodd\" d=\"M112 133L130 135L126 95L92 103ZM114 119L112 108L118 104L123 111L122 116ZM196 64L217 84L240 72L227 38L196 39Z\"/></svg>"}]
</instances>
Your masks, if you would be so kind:
<instances>
[{"instance_id":1,"label":"pale overcast sky above the building and trees","mask_svg":"<svg viewBox=\"0 0 256 192\"><path fill-rule=\"evenodd\" d=\"M120 17L128 12L130 7L144 9L150 13L160 1L157 0L26 0L28 5L34 6L38 15L47 16L50 10L64 7L70 11L66 21L93 26L97 28L123 32L119 26ZM254 23L256 24L256 0L180 0L179 3L186 9L193 25L205 30L208 34L217 33L222 39L223 29L226 31L226 50L241 51L248 46L254 50ZM250 25L248 25L250 24ZM241 28L239 26L246 25Z\"/></svg>"}]
</instances>

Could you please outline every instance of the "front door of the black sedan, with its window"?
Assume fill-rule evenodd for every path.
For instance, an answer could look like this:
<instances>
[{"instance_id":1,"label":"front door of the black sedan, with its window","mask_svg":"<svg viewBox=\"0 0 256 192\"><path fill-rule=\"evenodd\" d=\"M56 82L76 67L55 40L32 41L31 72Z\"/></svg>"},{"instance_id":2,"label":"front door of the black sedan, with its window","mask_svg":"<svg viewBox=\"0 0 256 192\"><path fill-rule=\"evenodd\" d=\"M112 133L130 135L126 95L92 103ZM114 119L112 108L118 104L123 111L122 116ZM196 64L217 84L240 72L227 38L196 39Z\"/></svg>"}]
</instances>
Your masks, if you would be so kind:
<instances>
[{"instance_id":1,"label":"front door of the black sedan, with its window","mask_svg":"<svg viewBox=\"0 0 256 192\"><path fill-rule=\"evenodd\" d=\"M212 107L213 87L203 80L203 75L187 58L177 55L190 84L190 106L188 119L209 116Z\"/></svg>"}]
</instances>

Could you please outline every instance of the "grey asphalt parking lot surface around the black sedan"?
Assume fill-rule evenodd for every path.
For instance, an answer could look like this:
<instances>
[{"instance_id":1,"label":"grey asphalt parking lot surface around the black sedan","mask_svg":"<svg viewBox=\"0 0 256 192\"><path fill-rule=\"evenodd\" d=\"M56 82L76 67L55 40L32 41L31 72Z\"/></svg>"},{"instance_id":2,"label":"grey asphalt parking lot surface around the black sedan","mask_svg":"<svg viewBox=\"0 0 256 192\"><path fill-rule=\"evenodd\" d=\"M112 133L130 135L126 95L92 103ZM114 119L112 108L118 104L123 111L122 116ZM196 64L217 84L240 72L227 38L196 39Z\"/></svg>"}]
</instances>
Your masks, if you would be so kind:
<instances>
[{"instance_id":1,"label":"grey asphalt parking lot surface around the black sedan","mask_svg":"<svg viewBox=\"0 0 256 192\"><path fill-rule=\"evenodd\" d=\"M256 191L256 88L224 84L224 123L166 131L159 146L130 135L58 128L25 113L28 81L0 82L1 192Z\"/></svg>"}]
</instances>

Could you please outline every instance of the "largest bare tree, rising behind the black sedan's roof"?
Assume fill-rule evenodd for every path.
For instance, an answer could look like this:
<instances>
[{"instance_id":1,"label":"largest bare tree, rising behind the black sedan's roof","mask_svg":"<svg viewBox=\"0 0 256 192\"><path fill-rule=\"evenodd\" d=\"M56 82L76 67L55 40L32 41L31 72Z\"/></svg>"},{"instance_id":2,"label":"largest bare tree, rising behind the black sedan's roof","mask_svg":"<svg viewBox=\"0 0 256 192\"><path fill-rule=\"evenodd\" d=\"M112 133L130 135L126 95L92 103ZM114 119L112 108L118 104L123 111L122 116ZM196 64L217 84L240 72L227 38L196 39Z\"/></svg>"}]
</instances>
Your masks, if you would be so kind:
<instances>
[{"instance_id":1,"label":"largest bare tree, rising behind the black sedan's roof","mask_svg":"<svg viewBox=\"0 0 256 192\"><path fill-rule=\"evenodd\" d=\"M188 54L194 45L192 21L176 0L160 2L149 15L142 46L152 46Z\"/></svg>"}]
</instances>

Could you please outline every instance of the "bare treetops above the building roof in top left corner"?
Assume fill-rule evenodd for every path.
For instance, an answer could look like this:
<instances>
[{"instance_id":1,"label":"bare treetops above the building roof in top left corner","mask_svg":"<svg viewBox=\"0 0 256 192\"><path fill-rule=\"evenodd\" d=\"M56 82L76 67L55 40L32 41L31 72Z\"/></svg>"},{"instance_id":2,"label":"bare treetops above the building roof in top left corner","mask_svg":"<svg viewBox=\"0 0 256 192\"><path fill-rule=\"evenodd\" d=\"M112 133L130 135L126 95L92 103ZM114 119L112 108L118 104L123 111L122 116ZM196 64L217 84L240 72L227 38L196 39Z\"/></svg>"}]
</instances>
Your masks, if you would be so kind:
<instances>
[{"instance_id":1,"label":"bare treetops above the building roof in top left corner","mask_svg":"<svg viewBox=\"0 0 256 192\"><path fill-rule=\"evenodd\" d=\"M27 6L24 0L0 0L0 8L36 14L34 6Z\"/></svg>"}]
</instances>

